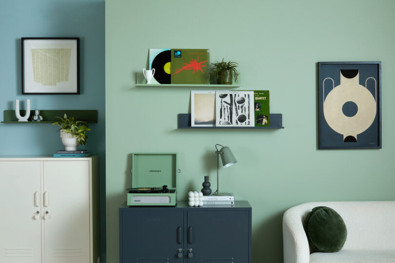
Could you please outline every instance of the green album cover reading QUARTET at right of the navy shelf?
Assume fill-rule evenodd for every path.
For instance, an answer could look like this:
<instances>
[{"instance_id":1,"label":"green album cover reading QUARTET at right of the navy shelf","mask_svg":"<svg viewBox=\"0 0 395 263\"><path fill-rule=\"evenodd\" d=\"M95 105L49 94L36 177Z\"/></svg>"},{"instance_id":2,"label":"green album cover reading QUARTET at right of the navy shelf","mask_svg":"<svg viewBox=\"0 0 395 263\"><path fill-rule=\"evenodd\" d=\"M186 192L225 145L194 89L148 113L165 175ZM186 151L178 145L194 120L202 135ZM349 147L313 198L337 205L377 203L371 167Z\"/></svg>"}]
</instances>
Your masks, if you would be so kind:
<instances>
[{"instance_id":1,"label":"green album cover reading QUARTET at right of the navy shelf","mask_svg":"<svg viewBox=\"0 0 395 263\"><path fill-rule=\"evenodd\" d=\"M269 91L254 91L255 127L270 126Z\"/></svg>"}]
</instances>

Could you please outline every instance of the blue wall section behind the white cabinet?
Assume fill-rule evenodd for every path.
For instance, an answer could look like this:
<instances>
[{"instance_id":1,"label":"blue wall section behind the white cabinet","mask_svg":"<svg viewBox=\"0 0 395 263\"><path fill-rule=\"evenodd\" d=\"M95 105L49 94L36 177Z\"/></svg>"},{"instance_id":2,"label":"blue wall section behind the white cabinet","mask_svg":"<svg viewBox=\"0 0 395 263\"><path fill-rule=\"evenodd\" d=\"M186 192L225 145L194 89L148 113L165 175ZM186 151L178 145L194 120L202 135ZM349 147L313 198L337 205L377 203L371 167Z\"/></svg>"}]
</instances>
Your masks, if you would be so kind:
<instances>
[{"instance_id":1,"label":"blue wall section behind the white cabinet","mask_svg":"<svg viewBox=\"0 0 395 263\"><path fill-rule=\"evenodd\" d=\"M22 37L80 38L80 95L21 95ZM105 248L104 0L3 0L0 8L0 120L14 100L35 110L98 110L86 147L100 157L101 247ZM62 149L51 124L0 124L0 156L47 155ZM101 257L100 262L104 262Z\"/></svg>"}]
</instances>

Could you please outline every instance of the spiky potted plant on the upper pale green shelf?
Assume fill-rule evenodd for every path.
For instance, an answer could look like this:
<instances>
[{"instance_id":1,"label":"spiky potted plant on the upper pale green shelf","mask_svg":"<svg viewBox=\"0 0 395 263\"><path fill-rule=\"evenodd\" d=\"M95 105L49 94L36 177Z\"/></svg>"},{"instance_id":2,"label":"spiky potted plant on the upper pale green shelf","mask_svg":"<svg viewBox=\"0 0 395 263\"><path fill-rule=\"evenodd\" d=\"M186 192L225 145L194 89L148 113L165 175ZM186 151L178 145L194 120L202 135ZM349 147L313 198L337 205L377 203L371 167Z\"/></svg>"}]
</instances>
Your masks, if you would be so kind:
<instances>
[{"instance_id":1,"label":"spiky potted plant on the upper pale green shelf","mask_svg":"<svg viewBox=\"0 0 395 263\"><path fill-rule=\"evenodd\" d=\"M234 61L224 61L222 58L221 62L211 63L213 64L210 70L210 76L217 78L218 84L232 84L233 80L237 81L237 67L238 64Z\"/></svg>"}]
</instances>

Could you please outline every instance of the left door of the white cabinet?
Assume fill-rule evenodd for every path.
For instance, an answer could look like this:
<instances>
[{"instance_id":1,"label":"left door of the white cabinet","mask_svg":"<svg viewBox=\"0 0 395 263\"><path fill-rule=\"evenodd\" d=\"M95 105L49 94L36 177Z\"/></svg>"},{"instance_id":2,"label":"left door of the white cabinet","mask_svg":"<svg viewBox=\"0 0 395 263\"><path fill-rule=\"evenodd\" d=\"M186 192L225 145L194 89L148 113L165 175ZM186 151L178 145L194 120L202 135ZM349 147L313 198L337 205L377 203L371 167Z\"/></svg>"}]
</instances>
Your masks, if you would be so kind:
<instances>
[{"instance_id":1,"label":"left door of the white cabinet","mask_svg":"<svg viewBox=\"0 0 395 263\"><path fill-rule=\"evenodd\" d=\"M41 262L40 162L0 162L0 262Z\"/></svg>"}]
</instances>

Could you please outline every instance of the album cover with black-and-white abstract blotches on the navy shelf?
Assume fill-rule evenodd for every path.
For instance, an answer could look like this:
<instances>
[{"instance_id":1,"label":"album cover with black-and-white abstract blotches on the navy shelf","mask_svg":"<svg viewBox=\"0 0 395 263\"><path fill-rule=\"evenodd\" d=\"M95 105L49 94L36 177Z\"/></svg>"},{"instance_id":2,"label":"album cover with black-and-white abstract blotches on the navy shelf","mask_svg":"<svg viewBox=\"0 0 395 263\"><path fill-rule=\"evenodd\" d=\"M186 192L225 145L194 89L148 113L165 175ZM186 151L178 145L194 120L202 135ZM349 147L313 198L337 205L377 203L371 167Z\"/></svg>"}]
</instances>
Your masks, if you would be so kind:
<instances>
[{"instance_id":1,"label":"album cover with black-and-white abstract blotches on the navy shelf","mask_svg":"<svg viewBox=\"0 0 395 263\"><path fill-rule=\"evenodd\" d=\"M253 91L216 91L216 126L254 127Z\"/></svg>"}]
</instances>

